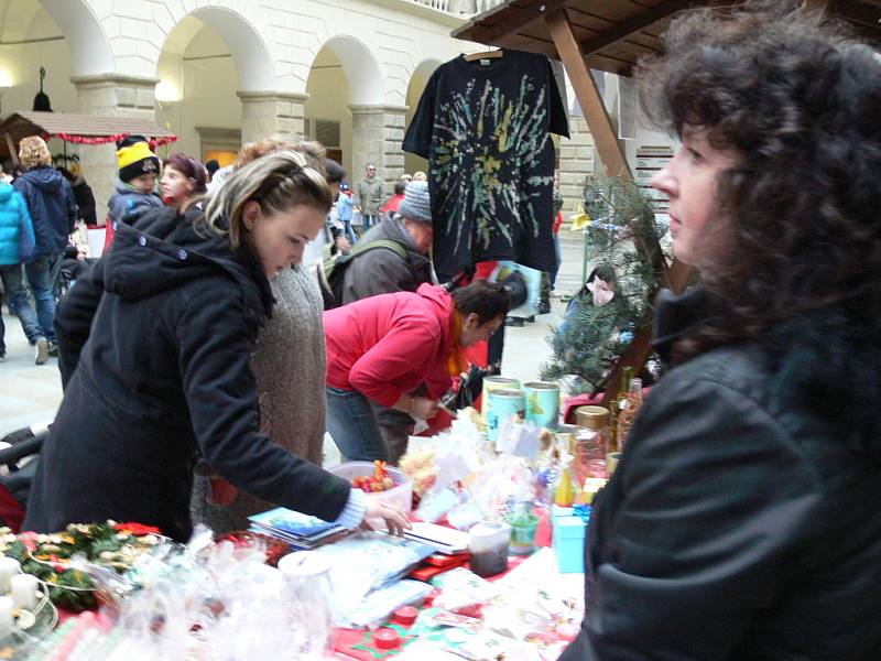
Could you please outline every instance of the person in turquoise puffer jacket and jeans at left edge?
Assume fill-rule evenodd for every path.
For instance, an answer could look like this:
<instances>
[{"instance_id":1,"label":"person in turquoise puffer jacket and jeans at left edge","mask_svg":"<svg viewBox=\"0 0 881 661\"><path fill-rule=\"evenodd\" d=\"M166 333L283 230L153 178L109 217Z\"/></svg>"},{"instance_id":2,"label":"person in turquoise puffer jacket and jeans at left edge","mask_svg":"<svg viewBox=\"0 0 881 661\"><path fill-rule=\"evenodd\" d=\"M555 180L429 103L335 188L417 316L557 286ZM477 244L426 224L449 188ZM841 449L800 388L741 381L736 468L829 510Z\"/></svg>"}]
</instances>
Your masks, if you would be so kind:
<instances>
[{"instance_id":1,"label":"person in turquoise puffer jacket and jeans at left edge","mask_svg":"<svg viewBox=\"0 0 881 661\"><path fill-rule=\"evenodd\" d=\"M22 284L22 262L30 258L29 252L35 242L33 223L24 198L10 184L0 182L0 281L10 308L18 315L29 339L39 336L39 322ZM6 326L0 313L0 360L4 360L7 355L4 336ZM43 349L47 353L47 347ZM37 360L41 359L40 351L37 346Z\"/></svg>"}]
</instances>

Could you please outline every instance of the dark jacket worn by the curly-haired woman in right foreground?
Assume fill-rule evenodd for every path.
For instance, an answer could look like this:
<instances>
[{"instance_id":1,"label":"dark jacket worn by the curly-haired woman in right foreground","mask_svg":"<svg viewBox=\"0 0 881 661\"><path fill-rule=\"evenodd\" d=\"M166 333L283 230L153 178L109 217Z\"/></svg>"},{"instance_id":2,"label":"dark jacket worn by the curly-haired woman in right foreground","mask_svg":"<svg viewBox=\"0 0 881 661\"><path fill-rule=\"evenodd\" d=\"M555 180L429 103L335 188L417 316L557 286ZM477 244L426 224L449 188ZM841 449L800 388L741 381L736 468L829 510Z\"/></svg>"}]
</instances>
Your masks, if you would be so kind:
<instances>
[{"instance_id":1,"label":"dark jacket worn by the curly-haired woman in right foreground","mask_svg":"<svg viewBox=\"0 0 881 661\"><path fill-rule=\"evenodd\" d=\"M662 302L662 354L701 297ZM881 346L836 311L804 317L653 389L595 502L562 661L881 659L881 440L862 397ZM862 369L852 390L827 378Z\"/></svg>"}]
</instances>

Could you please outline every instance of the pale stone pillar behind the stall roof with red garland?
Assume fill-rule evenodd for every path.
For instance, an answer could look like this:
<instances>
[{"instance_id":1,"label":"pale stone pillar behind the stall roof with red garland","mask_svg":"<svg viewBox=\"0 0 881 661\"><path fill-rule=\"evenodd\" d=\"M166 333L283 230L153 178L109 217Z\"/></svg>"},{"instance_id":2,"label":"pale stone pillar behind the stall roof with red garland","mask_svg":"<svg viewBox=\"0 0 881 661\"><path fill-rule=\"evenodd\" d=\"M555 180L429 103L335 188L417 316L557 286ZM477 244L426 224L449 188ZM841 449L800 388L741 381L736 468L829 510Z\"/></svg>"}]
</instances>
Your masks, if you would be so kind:
<instances>
[{"instance_id":1,"label":"pale stone pillar behind the stall roof with red garland","mask_svg":"<svg viewBox=\"0 0 881 661\"><path fill-rule=\"evenodd\" d=\"M155 87L159 78L100 74L74 76L79 111L105 117L138 117L155 121ZM83 176L95 193L98 221L104 221L107 201L118 177L116 144L84 144L79 148Z\"/></svg>"}]
</instances>

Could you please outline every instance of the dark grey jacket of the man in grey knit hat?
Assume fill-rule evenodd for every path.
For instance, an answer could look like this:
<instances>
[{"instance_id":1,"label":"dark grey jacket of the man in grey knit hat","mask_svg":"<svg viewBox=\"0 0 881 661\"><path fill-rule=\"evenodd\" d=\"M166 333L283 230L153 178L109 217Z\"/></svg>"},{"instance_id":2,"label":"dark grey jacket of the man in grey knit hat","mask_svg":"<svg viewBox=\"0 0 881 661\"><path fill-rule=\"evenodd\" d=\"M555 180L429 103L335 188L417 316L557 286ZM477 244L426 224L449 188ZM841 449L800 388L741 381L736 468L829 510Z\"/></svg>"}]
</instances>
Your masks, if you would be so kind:
<instances>
[{"instance_id":1,"label":"dark grey jacket of the man in grey knit hat","mask_svg":"<svg viewBox=\"0 0 881 661\"><path fill-rule=\"evenodd\" d=\"M342 274L342 304L393 292L415 292L432 282L432 262L416 250L404 226L390 214L371 227L359 243L391 240L405 250L402 259L388 248L374 248L352 258Z\"/></svg>"}]
</instances>

